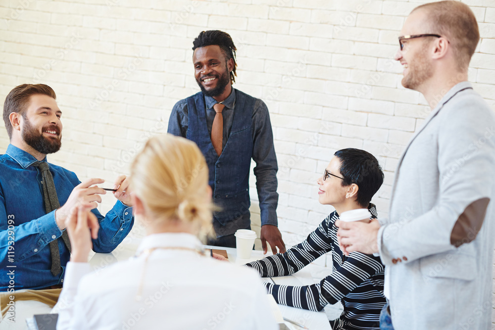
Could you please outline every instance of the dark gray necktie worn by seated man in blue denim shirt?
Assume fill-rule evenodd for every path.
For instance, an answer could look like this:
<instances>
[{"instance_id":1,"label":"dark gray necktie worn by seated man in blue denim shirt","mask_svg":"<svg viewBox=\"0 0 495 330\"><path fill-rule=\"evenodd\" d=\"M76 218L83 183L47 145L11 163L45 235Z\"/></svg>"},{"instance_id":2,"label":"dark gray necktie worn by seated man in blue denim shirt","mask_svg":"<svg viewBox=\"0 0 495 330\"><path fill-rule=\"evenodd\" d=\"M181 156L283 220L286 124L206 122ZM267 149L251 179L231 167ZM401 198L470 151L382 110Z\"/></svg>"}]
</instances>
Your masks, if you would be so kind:
<instances>
[{"instance_id":1,"label":"dark gray necktie worn by seated man in blue denim shirt","mask_svg":"<svg viewBox=\"0 0 495 330\"><path fill-rule=\"evenodd\" d=\"M51 176L50 167L47 162L35 162L33 166L37 166L41 170L41 176L43 181L41 182L43 186L43 200L45 201L45 210L50 213L60 207L57 197L57 191L55 190L55 184L53 183L53 177ZM62 232L62 240L69 249L70 252L70 240L67 235L67 231ZM60 252L58 251L58 239L52 240L50 242L50 252L51 252L51 274L57 276L60 273Z\"/></svg>"}]
</instances>

